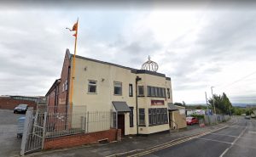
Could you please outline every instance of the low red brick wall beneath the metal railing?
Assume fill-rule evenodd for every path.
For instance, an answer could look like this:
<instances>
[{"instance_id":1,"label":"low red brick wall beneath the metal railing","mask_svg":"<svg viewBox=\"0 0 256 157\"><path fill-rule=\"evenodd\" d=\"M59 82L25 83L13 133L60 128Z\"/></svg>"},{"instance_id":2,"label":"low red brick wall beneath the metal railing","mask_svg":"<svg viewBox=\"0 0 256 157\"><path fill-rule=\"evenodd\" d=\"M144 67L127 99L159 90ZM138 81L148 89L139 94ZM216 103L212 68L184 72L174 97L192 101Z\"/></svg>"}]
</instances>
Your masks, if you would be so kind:
<instances>
[{"instance_id":1,"label":"low red brick wall beneath the metal railing","mask_svg":"<svg viewBox=\"0 0 256 157\"><path fill-rule=\"evenodd\" d=\"M91 132L64 137L55 137L44 140L44 149L63 149L89 143L98 143L99 140L108 138L108 142L120 139L120 130L110 129L102 132Z\"/></svg>"}]
</instances>

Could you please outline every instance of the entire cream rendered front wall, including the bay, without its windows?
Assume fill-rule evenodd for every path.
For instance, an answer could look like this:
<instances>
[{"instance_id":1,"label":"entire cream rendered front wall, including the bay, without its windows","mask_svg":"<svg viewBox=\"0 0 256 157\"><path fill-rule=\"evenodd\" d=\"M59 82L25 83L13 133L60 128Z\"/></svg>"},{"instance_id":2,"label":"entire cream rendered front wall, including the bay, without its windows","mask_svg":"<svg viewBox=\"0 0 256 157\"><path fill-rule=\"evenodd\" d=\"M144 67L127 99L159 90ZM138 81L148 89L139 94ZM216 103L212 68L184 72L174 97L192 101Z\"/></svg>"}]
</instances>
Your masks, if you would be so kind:
<instances>
[{"instance_id":1,"label":"entire cream rendered front wall, including the bay, without its windows","mask_svg":"<svg viewBox=\"0 0 256 157\"><path fill-rule=\"evenodd\" d=\"M71 62L73 62L73 58L71 59ZM73 70L73 67L71 67L71 70ZM128 106L134 107L133 127L130 127L129 113L125 113L125 135L136 134L136 76L142 78L142 81L138 81L138 86L144 86L145 94L145 97L138 97L138 108L145 109L146 122L146 126L139 126L139 133L148 134L168 130L168 124L148 126L148 108L167 108L167 103L172 103L172 84L171 81L166 80L166 77L164 76L134 74L131 73L131 70L129 69L76 58L75 80L73 84L73 106L86 106L84 111L89 112L109 111L110 109L113 109L112 101L125 101ZM89 80L97 81L96 93L88 93ZM122 82L121 96L113 95L113 81ZM133 97L129 97L129 84L132 84ZM147 97L147 86L170 88L171 98ZM151 99L165 100L165 105L151 106Z\"/></svg>"}]
</instances>

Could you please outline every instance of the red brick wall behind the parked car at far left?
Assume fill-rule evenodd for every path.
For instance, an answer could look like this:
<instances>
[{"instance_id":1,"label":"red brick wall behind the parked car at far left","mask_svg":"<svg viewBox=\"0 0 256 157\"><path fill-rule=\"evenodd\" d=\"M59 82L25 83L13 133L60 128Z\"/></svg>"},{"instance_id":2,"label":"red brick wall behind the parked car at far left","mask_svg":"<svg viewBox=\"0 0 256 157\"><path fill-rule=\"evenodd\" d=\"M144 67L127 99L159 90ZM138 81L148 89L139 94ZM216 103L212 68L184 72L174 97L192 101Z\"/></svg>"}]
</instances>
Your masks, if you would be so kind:
<instances>
[{"instance_id":1,"label":"red brick wall behind the parked car at far left","mask_svg":"<svg viewBox=\"0 0 256 157\"><path fill-rule=\"evenodd\" d=\"M29 107L37 109L37 104L34 101L16 100L13 98L0 98L0 109L15 109L18 104L28 104Z\"/></svg>"}]
</instances>

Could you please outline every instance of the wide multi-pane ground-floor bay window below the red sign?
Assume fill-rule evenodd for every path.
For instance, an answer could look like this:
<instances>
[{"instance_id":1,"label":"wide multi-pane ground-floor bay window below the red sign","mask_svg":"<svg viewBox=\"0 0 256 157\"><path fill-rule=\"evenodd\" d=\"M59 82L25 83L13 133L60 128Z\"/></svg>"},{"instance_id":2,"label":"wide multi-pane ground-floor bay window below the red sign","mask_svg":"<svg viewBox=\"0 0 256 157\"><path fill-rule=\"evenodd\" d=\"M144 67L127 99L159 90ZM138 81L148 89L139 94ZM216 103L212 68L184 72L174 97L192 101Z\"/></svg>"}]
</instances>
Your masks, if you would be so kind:
<instances>
[{"instance_id":1,"label":"wide multi-pane ground-floor bay window below the red sign","mask_svg":"<svg viewBox=\"0 0 256 157\"><path fill-rule=\"evenodd\" d=\"M168 115L166 108L148 109L149 126L162 125L168 123Z\"/></svg>"}]
</instances>

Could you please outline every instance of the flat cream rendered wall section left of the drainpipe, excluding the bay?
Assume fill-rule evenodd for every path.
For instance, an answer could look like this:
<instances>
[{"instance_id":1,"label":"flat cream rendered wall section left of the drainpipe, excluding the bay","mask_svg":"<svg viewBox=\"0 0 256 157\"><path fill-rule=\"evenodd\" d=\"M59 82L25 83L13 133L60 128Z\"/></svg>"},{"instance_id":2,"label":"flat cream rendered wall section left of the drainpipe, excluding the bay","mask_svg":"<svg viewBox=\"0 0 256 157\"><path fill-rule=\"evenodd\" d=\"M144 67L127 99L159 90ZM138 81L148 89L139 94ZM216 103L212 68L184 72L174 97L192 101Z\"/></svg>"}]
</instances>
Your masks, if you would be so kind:
<instances>
[{"instance_id":1,"label":"flat cream rendered wall section left of the drainpipe, excluding the bay","mask_svg":"<svg viewBox=\"0 0 256 157\"><path fill-rule=\"evenodd\" d=\"M113 109L112 101L125 101L134 107L133 127L130 127L129 113L125 113L125 135L136 134L135 78L131 70L76 58L73 106L84 105L89 112L109 111ZM97 81L96 93L88 93L89 80ZM122 82L122 95L113 94L113 81ZM133 97L129 97L129 84L132 84Z\"/></svg>"}]
</instances>

